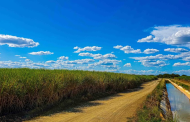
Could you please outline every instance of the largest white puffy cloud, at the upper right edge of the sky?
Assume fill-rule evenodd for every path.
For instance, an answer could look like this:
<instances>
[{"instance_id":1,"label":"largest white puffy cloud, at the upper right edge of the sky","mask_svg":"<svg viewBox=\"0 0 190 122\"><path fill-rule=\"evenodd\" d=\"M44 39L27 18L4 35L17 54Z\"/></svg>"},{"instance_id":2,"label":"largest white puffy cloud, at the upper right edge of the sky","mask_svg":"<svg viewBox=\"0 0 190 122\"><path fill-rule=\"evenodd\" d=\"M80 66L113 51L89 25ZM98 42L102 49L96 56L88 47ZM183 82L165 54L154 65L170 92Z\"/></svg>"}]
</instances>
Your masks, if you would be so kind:
<instances>
[{"instance_id":1,"label":"largest white puffy cloud, at the upper right edge of the sky","mask_svg":"<svg viewBox=\"0 0 190 122\"><path fill-rule=\"evenodd\" d=\"M154 27L151 35L139 39L138 42L159 42L190 48L190 27L182 27L180 25L157 26Z\"/></svg>"}]
</instances>

